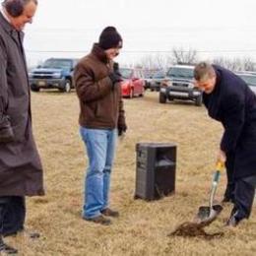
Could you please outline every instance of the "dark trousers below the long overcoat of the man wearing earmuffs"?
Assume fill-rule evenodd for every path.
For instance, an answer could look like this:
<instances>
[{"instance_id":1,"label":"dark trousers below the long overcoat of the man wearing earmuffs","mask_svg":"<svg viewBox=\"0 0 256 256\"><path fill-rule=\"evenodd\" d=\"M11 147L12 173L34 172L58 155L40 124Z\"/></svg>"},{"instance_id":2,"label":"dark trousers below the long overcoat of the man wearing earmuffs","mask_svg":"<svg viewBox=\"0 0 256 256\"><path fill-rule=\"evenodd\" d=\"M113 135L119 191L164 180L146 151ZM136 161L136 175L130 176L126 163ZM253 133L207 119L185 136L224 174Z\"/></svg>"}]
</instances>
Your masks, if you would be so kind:
<instances>
[{"instance_id":1,"label":"dark trousers below the long overcoat of the man wearing earmuffs","mask_svg":"<svg viewBox=\"0 0 256 256\"><path fill-rule=\"evenodd\" d=\"M26 217L25 197L0 197L0 235L14 234L24 228Z\"/></svg>"}]
</instances>

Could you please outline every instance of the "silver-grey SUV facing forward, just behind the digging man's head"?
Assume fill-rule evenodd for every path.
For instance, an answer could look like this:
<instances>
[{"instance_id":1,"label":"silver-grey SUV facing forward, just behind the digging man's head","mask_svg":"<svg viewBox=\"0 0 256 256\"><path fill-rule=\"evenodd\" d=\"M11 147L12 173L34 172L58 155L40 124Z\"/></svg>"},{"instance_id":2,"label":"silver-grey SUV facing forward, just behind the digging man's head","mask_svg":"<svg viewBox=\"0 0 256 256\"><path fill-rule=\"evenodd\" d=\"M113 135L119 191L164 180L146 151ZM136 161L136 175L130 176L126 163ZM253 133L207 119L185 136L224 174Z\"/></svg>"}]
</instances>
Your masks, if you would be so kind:
<instances>
[{"instance_id":1,"label":"silver-grey SUV facing forward, just behind the digging man's head","mask_svg":"<svg viewBox=\"0 0 256 256\"><path fill-rule=\"evenodd\" d=\"M193 100L202 105L202 92L194 86L194 66L175 65L168 69L165 79L160 84L160 103L166 100Z\"/></svg>"}]
</instances>

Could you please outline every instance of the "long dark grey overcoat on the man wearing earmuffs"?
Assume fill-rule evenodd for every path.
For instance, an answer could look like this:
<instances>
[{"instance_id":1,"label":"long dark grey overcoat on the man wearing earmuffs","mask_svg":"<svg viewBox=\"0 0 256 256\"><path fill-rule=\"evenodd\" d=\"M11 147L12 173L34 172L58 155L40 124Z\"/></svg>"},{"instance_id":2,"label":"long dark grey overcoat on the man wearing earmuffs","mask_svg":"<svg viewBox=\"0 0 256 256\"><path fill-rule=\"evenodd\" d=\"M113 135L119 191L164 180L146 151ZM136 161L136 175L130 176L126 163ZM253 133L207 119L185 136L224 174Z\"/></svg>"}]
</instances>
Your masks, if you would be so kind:
<instances>
[{"instance_id":1,"label":"long dark grey overcoat on the man wearing earmuffs","mask_svg":"<svg viewBox=\"0 0 256 256\"><path fill-rule=\"evenodd\" d=\"M23 48L17 32L0 13L0 196L43 195L42 166L32 136L31 95Z\"/></svg>"}]
</instances>

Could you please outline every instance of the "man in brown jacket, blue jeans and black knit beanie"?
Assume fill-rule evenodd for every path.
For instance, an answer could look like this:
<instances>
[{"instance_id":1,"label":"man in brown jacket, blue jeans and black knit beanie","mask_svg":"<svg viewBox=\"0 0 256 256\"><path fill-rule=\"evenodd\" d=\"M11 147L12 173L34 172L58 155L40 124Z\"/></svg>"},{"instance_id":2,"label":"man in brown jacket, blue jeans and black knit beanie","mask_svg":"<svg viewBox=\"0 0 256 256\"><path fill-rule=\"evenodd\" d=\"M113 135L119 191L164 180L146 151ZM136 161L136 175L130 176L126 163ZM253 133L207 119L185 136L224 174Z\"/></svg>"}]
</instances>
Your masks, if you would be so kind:
<instances>
[{"instance_id":1,"label":"man in brown jacket, blue jeans and black knit beanie","mask_svg":"<svg viewBox=\"0 0 256 256\"><path fill-rule=\"evenodd\" d=\"M109 186L116 134L121 135L127 129L119 85L121 76L112 61L121 47L122 38L116 29L105 28L74 73L81 108L80 133L89 159L83 219L97 224L110 224L105 217L119 216L109 208Z\"/></svg>"}]
</instances>

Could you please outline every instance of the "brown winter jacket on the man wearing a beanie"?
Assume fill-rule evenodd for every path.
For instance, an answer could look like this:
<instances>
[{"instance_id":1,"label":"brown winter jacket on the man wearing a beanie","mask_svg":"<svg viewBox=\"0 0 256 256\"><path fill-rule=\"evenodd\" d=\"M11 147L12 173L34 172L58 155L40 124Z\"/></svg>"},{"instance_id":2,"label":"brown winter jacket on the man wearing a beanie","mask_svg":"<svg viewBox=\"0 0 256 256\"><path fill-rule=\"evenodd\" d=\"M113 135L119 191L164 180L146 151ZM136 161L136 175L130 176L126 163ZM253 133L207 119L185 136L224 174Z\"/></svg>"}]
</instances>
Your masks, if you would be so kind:
<instances>
[{"instance_id":1,"label":"brown winter jacket on the man wearing a beanie","mask_svg":"<svg viewBox=\"0 0 256 256\"><path fill-rule=\"evenodd\" d=\"M120 85L113 86L108 77L112 62L94 45L74 71L76 92L80 100L79 123L86 128L114 129L125 126Z\"/></svg>"}]
</instances>

